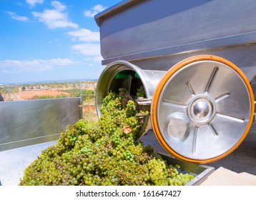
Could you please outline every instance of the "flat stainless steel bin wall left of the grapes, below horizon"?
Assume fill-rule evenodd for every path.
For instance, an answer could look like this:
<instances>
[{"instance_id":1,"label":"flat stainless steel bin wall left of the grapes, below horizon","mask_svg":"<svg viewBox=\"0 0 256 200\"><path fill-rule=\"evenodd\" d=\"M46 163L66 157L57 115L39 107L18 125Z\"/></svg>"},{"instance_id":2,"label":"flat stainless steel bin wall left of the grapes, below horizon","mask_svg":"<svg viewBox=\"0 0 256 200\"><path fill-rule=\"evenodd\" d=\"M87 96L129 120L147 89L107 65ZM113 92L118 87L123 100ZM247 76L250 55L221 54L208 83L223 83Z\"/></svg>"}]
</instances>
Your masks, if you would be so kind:
<instances>
[{"instance_id":1,"label":"flat stainless steel bin wall left of the grapes, below horizon","mask_svg":"<svg viewBox=\"0 0 256 200\"><path fill-rule=\"evenodd\" d=\"M81 119L81 98L0 102L0 151L53 141Z\"/></svg>"}]
</instances>

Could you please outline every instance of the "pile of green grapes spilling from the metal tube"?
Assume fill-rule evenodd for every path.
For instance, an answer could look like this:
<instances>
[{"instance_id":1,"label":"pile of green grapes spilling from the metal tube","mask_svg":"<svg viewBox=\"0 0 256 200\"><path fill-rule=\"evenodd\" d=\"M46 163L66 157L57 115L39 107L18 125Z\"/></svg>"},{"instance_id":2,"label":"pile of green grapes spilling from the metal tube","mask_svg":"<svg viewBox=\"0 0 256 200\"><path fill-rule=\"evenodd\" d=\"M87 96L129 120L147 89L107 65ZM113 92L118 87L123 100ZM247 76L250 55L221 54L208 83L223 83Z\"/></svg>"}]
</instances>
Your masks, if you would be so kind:
<instances>
[{"instance_id":1,"label":"pile of green grapes spilling from the metal tube","mask_svg":"<svg viewBox=\"0 0 256 200\"><path fill-rule=\"evenodd\" d=\"M99 120L79 120L60 134L25 170L20 186L159 186L185 185L192 174L179 173L136 136L142 128L133 100L110 92Z\"/></svg>"}]
</instances>

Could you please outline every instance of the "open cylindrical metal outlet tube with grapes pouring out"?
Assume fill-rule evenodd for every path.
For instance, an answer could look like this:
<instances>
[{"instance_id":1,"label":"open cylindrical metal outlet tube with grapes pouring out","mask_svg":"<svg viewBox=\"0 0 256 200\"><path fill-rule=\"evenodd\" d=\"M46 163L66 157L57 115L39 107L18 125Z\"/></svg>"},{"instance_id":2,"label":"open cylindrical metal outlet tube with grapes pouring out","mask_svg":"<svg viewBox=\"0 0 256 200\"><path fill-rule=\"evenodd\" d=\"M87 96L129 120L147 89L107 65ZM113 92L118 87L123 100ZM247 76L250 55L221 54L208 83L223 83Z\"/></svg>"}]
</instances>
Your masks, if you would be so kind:
<instances>
[{"instance_id":1,"label":"open cylindrical metal outlet tube with grapes pouring out","mask_svg":"<svg viewBox=\"0 0 256 200\"><path fill-rule=\"evenodd\" d=\"M97 114L100 116L102 100L107 94L112 91L116 94L120 88L125 88L131 96L137 97L137 110L150 111L151 100L157 84L162 79L166 71L142 70L138 66L129 63L128 61L114 61L102 72L99 76L96 92L96 107ZM145 96L139 98L137 89L143 86ZM143 136L149 129L152 129L150 116L138 116L142 118L142 130L137 138Z\"/></svg>"}]
</instances>

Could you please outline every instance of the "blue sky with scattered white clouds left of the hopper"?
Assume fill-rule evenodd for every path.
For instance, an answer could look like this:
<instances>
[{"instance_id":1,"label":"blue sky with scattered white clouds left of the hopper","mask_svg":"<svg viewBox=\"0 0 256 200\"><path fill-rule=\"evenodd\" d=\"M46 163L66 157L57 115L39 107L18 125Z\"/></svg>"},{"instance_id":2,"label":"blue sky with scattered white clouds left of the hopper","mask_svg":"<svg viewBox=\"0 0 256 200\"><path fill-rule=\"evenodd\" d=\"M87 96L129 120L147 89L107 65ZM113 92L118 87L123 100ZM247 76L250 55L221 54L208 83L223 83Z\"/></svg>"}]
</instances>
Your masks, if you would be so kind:
<instances>
[{"instance_id":1,"label":"blue sky with scattered white clouds left of the hopper","mask_svg":"<svg viewBox=\"0 0 256 200\"><path fill-rule=\"evenodd\" d=\"M98 79L94 15L121 0L0 0L0 84Z\"/></svg>"}]
</instances>

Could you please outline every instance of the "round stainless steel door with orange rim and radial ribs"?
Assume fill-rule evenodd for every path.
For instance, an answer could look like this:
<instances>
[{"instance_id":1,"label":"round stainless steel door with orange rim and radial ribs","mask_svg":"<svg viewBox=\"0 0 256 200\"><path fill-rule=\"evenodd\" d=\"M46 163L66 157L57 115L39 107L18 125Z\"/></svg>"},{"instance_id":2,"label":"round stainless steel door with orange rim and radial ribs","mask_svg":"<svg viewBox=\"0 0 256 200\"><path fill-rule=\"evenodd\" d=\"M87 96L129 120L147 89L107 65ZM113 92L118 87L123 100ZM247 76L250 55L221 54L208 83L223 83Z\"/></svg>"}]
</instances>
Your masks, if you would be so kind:
<instances>
[{"instance_id":1,"label":"round stainless steel door with orange rim and radial ribs","mask_svg":"<svg viewBox=\"0 0 256 200\"><path fill-rule=\"evenodd\" d=\"M234 151L253 114L250 82L235 64L211 55L193 56L169 69L151 106L159 144L177 159L196 164Z\"/></svg>"}]
</instances>

